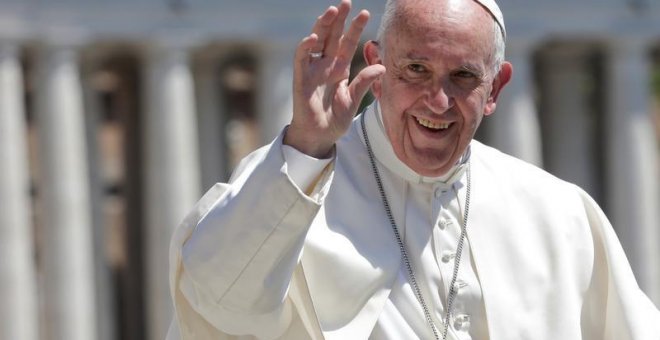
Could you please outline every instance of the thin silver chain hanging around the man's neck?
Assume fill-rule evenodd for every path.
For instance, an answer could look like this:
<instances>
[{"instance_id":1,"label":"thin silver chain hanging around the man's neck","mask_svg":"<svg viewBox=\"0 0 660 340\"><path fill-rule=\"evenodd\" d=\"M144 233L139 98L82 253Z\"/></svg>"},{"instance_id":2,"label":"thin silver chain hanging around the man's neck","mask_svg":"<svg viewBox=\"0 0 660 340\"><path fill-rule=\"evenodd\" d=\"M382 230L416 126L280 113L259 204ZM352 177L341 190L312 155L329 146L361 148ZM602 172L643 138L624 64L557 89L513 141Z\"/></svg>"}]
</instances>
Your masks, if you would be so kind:
<instances>
[{"instance_id":1,"label":"thin silver chain hanging around the man's neck","mask_svg":"<svg viewBox=\"0 0 660 340\"><path fill-rule=\"evenodd\" d=\"M419 286L417 285L417 279L415 278L415 273L413 272L412 265L410 264L410 260L408 259L408 252L406 251L406 247L401 239L401 235L399 234L399 229L396 226L396 222L394 221L394 217L392 215L392 209L390 209L390 204L387 201L387 196L385 195L385 189L383 188L383 182L380 179L380 174L378 172L378 167L376 167L376 160L374 157L374 152L371 149L371 143L369 142L369 136L367 135L367 130L365 128L365 121L364 121L364 116L365 113L362 113L362 116L360 117L360 122L362 124L362 134L364 135L364 142L367 145L367 153L369 154L369 162L371 163L371 169L374 173L374 177L376 178L376 184L378 185L378 191L380 192L380 197L381 200L383 201L383 207L385 208L385 213L387 214L387 218L390 221L390 225L392 226L392 231L394 232L394 236L396 238L396 242L399 245L399 250L401 252L401 258L403 259L403 263L406 265L406 270L408 271L408 278L410 279L410 284L412 285L412 288L415 292L415 296L417 297L417 301L419 301L419 304L422 306L422 309L424 310L424 316L426 317L426 322L429 324L431 327L431 330L433 331L433 336L435 337L436 340L440 340L440 337L438 336L438 328L435 326L435 323L433 322L433 318L431 317L431 312L429 311L428 306L426 305L426 302L424 301L424 297L422 296L422 291L419 289ZM451 278L451 284L449 286L449 295L447 296L447 311L445 313L445 320L444 320L444 328L442 331L442 339L447 340L447 330L449 329L449 318L451 316L451 310L453 308L454 304L454 298L456 297L456 279L458 277L458 269L461 264L461 253L463 253L463 240L465 240L466 237L466 230L467 230L467 220L468 220L468 212L470 210L470 184L471 184L471 178L470 178L470 163L468 161L467 164L467 189L466 189L466 196L465 196L465 211L463 213L463 224L461 227L461 236L458 240L458 246L456 247L456 257L454 259L454 273Z\"/></svg>"}]
</instances>

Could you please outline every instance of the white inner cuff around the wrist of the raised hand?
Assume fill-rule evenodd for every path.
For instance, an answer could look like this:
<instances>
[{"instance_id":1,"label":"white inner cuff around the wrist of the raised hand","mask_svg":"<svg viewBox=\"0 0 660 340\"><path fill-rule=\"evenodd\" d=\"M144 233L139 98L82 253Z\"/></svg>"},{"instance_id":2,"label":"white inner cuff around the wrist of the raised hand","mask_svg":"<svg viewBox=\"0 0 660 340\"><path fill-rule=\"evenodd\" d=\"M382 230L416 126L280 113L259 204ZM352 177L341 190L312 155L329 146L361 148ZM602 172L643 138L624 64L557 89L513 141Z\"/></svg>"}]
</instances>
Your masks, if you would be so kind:
<instances>
[{"instance_id":1,"label":"white inner cuff around the wrist of the raised hand","mask_svg":"<svg viewBox=\"0 0 660 340\"><path fill-rule=\"evenodd\" d=\"M291 178L291 181L303 191L318 178L321 171L334 158L334 154L326 159L314 158L289 145L282 145L282 153L284 154L284 161L287 164L287 174Z\"/></svg>"}]
</instances>

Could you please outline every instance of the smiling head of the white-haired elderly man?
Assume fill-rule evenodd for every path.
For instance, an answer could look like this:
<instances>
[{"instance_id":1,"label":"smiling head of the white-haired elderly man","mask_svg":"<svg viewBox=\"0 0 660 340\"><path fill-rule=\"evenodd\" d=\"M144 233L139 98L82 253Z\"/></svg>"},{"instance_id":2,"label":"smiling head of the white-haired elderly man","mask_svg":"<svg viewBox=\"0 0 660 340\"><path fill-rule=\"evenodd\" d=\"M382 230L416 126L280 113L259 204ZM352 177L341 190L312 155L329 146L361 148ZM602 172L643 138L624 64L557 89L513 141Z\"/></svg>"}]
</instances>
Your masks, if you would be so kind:
<instances>
[{"instance_id":1,"label":"smiling head of the white-haired elderly man","mask_svg":"<svg viewBox=\"0 0 660 340\"><path fill-rule=\"evenodd\" d=\"M496 56L504 51L496 46L504 43L500 28L479 7L405 2L401 15L386 18L383 46L366 45L367 62L387 69L373 85L386 134L396 156L420 175L455 165L511 78L511 65ZM403 15L413 10L424 15Z\"/></svg>"}]
</instances>

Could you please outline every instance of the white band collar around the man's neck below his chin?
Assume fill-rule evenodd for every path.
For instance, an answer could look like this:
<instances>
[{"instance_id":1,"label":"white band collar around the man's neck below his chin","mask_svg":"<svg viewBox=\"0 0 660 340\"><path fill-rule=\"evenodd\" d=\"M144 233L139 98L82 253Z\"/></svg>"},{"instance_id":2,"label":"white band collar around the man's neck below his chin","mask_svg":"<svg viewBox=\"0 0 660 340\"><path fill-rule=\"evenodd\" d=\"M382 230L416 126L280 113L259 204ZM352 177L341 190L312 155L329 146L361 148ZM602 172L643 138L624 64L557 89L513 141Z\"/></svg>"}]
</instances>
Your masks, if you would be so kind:
<instances>
[{"instance_id":1,"label":"white band collar around the man's neck below his chin","mask_svg":"<svg viewBox=\"0 0 660 340\"><path fill-rule=\"evenodd\" d=\"M383 118L380 112L378 101L374 101L363 113L366 115L365 127L369 138L372 140L371 146L374 151L376 159L384 164L390 171L401 176L405 180L413 183L446 183L453 184L459 180L465 172L465 167L468 159L470 158L470 147L458 160L456 165L449 169L449 171L438 177L426 177L416 173L413 169L403 163L394 153L392 144L390 143L385 133L385 126L383 125Z\"/></svg>"}]
</instances>

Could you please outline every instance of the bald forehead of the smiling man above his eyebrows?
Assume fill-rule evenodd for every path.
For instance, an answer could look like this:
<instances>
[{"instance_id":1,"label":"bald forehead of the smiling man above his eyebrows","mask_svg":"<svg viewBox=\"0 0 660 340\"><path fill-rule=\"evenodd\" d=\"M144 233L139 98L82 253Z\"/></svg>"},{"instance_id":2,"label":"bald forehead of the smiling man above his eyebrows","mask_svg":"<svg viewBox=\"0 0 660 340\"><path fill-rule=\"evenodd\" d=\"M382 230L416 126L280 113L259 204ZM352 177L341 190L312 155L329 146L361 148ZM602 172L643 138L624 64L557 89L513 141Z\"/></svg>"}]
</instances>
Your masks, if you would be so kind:
<instances>
[{"instance_id":1,"label":"bald forehead of the smiling man above his eyebrows","mask_svg":"<svg viewBox=\"0 0 660 340\"><path fill-rule=\"evenodd\" d=\"M388 53L486 63L494 51L493 19L473 0L402 0L385 38Z\"/></svg>"}]
</instances>

